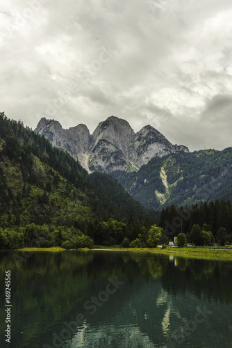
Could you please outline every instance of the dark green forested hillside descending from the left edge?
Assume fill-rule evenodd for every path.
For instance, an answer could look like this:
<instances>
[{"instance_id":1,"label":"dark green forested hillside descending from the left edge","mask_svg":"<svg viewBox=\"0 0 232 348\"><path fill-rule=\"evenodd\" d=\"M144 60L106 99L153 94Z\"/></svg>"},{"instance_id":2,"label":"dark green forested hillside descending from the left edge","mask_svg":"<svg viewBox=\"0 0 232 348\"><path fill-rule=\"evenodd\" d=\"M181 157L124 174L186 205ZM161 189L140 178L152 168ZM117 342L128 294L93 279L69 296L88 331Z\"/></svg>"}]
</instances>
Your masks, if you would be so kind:
<instances>
[{"instance_id":1,"label":"dark green forested hillside descending from the left edge","mask_svg":"<svg viewBox=\"0 0 232 348\"><path fill-rule=\"evenodd\" d=\"M134 223L135 235L153 222L117 180L88 175L67 152L0 113L1 247L28 244L31 235L40 246L67 240L71 246L83 235L94 241L98 224L108 219L132 229Z\"/></svg>"}]
</instances>

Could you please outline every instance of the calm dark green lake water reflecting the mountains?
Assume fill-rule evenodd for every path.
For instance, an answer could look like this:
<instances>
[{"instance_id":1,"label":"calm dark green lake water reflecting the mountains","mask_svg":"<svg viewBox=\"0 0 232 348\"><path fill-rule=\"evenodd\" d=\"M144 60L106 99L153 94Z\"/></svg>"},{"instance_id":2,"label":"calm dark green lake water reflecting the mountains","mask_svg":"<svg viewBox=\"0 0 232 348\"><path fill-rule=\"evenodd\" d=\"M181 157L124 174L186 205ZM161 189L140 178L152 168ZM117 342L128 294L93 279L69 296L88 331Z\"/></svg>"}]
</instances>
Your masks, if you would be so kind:
<instances>
[{"instance_id":1,"label":"calm dark green lake water reflecting the mountains","mask_svg":"<svg viewBox=\"0 0 232 348\"><path fill-rule=\"evenodd\" d=\"M0 347L232 347L232 262L63 251L15 263L13 255L0 253Z\"/></svg>"}]
</instances>

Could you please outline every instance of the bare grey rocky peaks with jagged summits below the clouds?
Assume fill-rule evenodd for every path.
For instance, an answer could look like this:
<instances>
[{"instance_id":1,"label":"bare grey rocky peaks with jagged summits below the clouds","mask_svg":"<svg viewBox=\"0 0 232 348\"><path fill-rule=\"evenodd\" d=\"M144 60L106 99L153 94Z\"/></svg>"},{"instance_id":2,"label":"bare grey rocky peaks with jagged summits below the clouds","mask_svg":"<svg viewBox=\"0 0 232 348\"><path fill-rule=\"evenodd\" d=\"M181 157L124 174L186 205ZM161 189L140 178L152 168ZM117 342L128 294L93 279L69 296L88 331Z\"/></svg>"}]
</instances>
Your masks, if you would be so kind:
<instances>
[{"instance_id":1,"label":"bare grey rocky peaks with jagged summits below the clouds","mask_svg":"<svg viewBox=\"0 0 232 348\"><path fill-rule=\"evenodd\" d=\"M69 152L89 173L138 171L153 157L189 152L183 145L172 145L150 125L135 133L129 122L115 116L100 122L93 134L86 125L63 129L58 121L46 118L40 120L35 132Z\"/></svg>"}]
</instances>

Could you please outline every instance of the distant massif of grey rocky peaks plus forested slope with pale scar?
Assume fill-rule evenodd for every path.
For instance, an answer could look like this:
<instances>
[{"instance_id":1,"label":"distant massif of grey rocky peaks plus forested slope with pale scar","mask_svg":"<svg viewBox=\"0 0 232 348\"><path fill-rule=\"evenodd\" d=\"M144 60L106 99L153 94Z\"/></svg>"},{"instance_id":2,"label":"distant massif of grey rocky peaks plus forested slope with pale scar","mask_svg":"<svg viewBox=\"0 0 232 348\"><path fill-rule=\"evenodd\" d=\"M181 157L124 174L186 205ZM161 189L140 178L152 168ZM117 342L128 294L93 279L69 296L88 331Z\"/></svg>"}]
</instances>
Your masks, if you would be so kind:
<instances>
[{"instance_id":1,"label":"distant massif of grey rocky peaks plus forested slope with pale scar","mask_svg":"<svg viewBox=\"0 0 232 348\"><path fill-rule=\"evenodd\" d=\"M63 129L45 118L35 131L78 158L89 172L115 177L149 209L232 199L231 148L190 153L150 125L135 133L129 122L114 116L100 122L92 135L85 125Z\"/></svg>"}]
</instances>

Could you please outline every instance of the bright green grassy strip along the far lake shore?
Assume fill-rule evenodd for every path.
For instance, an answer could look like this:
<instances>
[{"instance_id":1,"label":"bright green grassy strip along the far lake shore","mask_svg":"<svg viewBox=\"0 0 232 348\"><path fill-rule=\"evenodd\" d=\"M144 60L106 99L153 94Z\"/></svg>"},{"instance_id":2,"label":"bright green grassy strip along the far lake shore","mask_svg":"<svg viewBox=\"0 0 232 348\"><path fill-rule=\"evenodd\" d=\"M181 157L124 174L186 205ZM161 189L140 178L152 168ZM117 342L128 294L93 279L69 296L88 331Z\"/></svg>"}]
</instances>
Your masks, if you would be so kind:
<instances>
[{"instance_id":1,"label":"bright green grassy strip along the far lake shore","mask_svg":"<svg viewBox=\"0 0 232 348\"><path fill-rule=\"evenodd\" d=\"M65 251L66 249L60 247L53 248L22 248L17 251ZM70 250L70 249L69 249ZM163 255L173 255L183 258L202 258L208 260L223 260L232 261L232 249L217 249L217 248L120 248L115 246L97 246L95 248L78 248L71 249L78 251L133 251L140 253L156 253Z\"/></svg>"}]
</instances>

